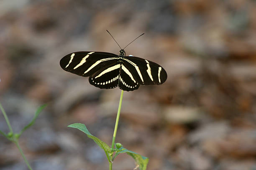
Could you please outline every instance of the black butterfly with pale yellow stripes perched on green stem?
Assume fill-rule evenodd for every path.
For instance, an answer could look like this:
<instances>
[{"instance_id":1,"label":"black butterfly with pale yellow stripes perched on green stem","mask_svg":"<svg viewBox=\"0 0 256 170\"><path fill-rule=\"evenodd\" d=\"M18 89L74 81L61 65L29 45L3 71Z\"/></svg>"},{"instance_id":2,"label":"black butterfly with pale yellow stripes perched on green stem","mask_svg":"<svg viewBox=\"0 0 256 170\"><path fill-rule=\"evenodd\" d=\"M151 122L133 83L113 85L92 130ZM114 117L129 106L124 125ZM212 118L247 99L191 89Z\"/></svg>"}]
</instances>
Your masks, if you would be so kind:
<instances>
[{"instance_id":1,"label":"black butterfly with pale yellow stripes perched on green stem","mask_svg":"<svg viewBox=\"0 0 256 170\"><path fill-rule=\"evenodd\" d=\"M109 52L72 52L60 60L60 65L68 72L90 76L90 84L101 89L118 86L121 90L132 91L140 85L160 85L165 82L167 74L163 67L143 58L125 56L125 47L120 47L119 55Z\"/></svg>"}]
</instances>

